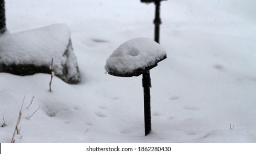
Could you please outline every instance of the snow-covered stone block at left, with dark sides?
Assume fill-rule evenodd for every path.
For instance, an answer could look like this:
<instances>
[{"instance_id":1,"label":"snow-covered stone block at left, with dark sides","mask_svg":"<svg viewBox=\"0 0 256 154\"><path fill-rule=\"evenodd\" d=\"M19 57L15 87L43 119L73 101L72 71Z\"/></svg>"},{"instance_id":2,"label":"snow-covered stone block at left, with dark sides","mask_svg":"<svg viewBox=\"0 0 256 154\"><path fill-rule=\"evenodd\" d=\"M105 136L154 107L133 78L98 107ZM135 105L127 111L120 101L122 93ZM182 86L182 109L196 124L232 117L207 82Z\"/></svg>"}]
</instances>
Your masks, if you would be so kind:
<instances>
[{"instance_id":1,"label":"snow-covered stone block at left, with dark sides","mask_svg":"<svg viewBox=\"0 0 256 154\"><path fill-rule=\"evenodd\" d=\"M71 43L71 31L64 24L0 37L0 72L16 75L54 73L66 83L80 81L79 67Z\"/></svg>"}]
</instances>

